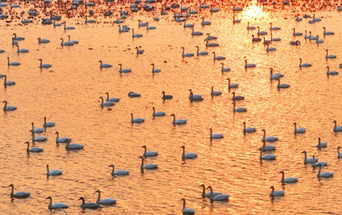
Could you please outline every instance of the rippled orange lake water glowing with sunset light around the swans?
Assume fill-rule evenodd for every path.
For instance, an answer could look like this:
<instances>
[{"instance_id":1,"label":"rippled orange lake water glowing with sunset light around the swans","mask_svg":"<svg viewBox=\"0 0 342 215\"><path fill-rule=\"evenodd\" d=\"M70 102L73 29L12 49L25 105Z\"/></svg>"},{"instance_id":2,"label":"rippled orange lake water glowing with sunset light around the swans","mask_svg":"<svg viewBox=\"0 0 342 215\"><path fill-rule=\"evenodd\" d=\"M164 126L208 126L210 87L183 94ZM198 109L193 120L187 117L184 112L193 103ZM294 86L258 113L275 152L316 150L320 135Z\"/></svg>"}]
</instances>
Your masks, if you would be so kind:
<instances>
[{"instance_id":1,"label":"rippled orange lake water glowing with sunset light around the swans","mask_svg":"<svg viewBox=\"0 0 342 215\"><path fill-rule=\"evenodd\" d=\"M342 125L342 74L328 78L326 66L342 72L339 69L341 13L337 9L316 11L316 17L323 17L322 21L309 24L308 19L294 21L295 14L300 17L304 14L298 7L279 6L277 10L268 7L269 10L262 10L260 5L252 4L244 8L235 14L235 18L242 19L241 23L234 25L231 5L212 15L206 9L202 13L212 25L202 27L198 15L187 22L195 24L195 31L204 33L198 37L192 37L191 30L184 29L182 23L172 21L171 11L160 16L160 9L156 12L161 18L159 22L153 21L154 15L146 12L128 16L124 24L134 28L135 33L143 34L142 38L135 39L131 31L119 34L117 25L108 23L114 17L98 16L95 19L99 23L87 25L83 24L82 17L63 17L67 26L76 28L66 32L52 25L19 26L14 21L6 24L1 20L0 48L5 52L0 54L0 73L16 85L0 90L0 98L18 109L0 116L0 214L50 214L48 196L54 202L69 205L68 209L52 212L73 215L84 212L179 215L182 198L198 215L340 214L342 162L337 159L337 147L342 136L333 132L332 122L337 120ZM32 7L12 10L26 11L26 17L29 8ZM3 9L8 10L8 7ZM138 28L138 19L148 21L157 29ZM247 21L268 32L271 21L281 27L280 31L273 31L274 38L282 39L271 44L277 50L267 53L262 42L253 44L251 36L257 30L247 31ZM322 27L334 31L335 35L324 38ZM294 39L292 28L303 33L312 31L324 43L316 44L304 37ZM218 47L205 47L203 41L208 32L218 37L211 41L219 43ZM11 45L13 33L26 38L19 44L20 48L29 49L28 53L16 53L17 47ZM79 44L61 47L59 39L66 40L67 35ZM38 44L38 37L51 42ZM269 34L266 39L270 39ZM289 44L295 40L301 45ZM180 47L195 53L196 45L209 55L182 58ZM141 46L144 54L137 56L136 46ZM325 49L329 49L329 54L338 55L337 59L326 60ZM213 61L211 51L214 50L217 55L227 57L222 62L230 72L221 73L221 61ZM8 68L7 56L21 65ZM244 56L248 63L257 66L245 70ZM52 67L41 70L39 58ZM299 58L312 67L300 69ZM99 60L113 67L100 69ZM120 75L119 63L132 72ZM151 63L162 72L153 75ZM291 86L278 90L277 81L270 81L270 67L285 74L282 83ZM229 91L227 78L239 83L239 87ZM221 90L222 95L212 97L211 86ZM190 102L189 88L194 94L202 94L204 100ZM105 97L107 91L111 97L121 98L111 110L100 107L99 97ZM141 97L129 98L130 91L141 93ZM172 94L173 99L163 101L162 91ZM236 102L236 107L248 108L246 113L233 113L232 91L245 96ZM166 116L153 118L152 107L165 111ZM132 126L130 113L135 118L144 118L145 122ZM187 124L173 126L170 117L173 113L177 119L188 119ZM34 144L44 148L44 152L27 154L24 142L32 142L31 122L42 127L44 116L56 122L56 126L41 134L48 141ZM244 135L243 122L256 127L257 132ZM306 127L306 133L294 135L294 122ZM225 137L211 142L210 128ZM277 147L272 153L278 156L276 161L259 160L261 129L266 129L267 135L279 137L279 141L268 143ZM67 151L64 144L57 146L56 131L83 144L84 149ZM315 147L318 137L328 142L326 149ZM158 157L146 160L146 163L158 164L158 170L140 171L143 145L148 150L159 151ZM198 157L184 163L182 145L186 152L198 153ZM304 150L309 157L315 155L320 161L329 162L323 171L335 172L334 177L318 179L318 169L303 164L301 152ZM63 174L47 179L47 164L50 169L62 169ZM128 176L113 178L108 167L111 164L116 170L131 172ZM285 177L298 177L299 181L282 185L278 173L282 170ZM11 183L15 185L14 192L27 191L31 197L11 201L10 187L7 187ZM214 191L229 194L229 202L211 204L208 198L202 199L199 186L203 183L211 185ZM276 190L284 190L285 196L270 198L272 185ZM82 210L78 199L84 197L86 201L96 202L94 192L98 189L102 191L102 198L117 199L116 205Z\"/></svg>"}]
</instances>

